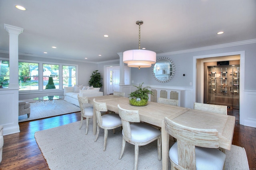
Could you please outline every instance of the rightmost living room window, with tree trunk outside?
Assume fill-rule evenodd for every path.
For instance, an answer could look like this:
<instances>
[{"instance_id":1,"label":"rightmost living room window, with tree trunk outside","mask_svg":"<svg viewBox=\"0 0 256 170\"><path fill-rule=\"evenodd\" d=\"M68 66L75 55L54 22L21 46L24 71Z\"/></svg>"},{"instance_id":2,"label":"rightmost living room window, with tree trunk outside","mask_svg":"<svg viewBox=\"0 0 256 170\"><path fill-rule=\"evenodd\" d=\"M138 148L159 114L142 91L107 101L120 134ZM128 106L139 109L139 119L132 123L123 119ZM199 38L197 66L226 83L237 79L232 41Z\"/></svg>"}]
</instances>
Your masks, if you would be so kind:
<instances>
[{"instance_id":1,"label":"rightmost living room window, with tree trunk outside","mask_svg":"<svg viewBox=\"0 0 256 170\"><path fill-rule=\"evenodd\" d=\"M63 88L76 84L76 66L62 66Z\"/></svg>"}]
</instances>

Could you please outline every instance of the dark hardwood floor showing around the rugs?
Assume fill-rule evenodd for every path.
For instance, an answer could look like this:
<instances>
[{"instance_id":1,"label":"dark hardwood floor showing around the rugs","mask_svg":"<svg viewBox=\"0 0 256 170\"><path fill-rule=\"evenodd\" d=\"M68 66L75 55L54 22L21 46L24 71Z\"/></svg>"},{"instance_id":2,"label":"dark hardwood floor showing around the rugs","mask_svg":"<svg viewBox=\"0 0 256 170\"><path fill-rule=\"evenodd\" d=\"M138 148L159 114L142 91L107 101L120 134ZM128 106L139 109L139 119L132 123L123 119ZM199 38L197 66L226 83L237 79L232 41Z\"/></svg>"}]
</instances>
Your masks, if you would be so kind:
<instances>
[{"instance_id":1,"label":"dark hardwood floor showing around the rugs","mask_svg":"<svg viewBox=\"0 0 256 170\"><path fill-rule=\"evenodd\" d=\"M256 128L239 125L239 110L229 109L228 115L236 116L232 144L245 148L250 170L256 170ZM34 133L79 120L80 112L76 112L19 123L20 133L4 136L0 170L49 170Z\"/></svg>"}]
</instances>

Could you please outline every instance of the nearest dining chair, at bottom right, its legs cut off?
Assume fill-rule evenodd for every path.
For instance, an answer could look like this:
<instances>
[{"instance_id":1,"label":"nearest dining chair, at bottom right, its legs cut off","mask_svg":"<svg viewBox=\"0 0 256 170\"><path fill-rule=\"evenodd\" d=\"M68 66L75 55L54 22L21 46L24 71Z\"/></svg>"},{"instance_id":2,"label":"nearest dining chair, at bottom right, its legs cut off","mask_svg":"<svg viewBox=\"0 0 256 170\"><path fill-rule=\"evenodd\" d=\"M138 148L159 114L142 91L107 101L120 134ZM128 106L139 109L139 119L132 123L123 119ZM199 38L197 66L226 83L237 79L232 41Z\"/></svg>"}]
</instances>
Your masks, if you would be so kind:
<instances>
[{"instance_id":1,"label":"nearest dining chair, at bottom right, its legs cut off","mask_svg":"<svg viewBox=\"0 0 256 170\"><path fill-rule=\"evenodd\" d=\"M218 150L216 129L186 127L164 118L167 133L177 139L169 150L172 169L222 170L226 154Z\"/></svg>"}]
</instances>

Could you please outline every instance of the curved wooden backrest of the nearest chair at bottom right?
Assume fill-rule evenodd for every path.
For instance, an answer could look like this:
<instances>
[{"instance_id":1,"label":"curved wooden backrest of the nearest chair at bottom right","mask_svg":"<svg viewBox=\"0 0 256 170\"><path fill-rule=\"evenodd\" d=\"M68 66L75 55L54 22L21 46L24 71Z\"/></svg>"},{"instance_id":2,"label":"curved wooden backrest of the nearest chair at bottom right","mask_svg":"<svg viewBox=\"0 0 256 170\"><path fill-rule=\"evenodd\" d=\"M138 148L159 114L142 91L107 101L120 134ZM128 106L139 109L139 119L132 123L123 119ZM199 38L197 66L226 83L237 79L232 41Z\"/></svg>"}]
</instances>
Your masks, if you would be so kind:
<instances>
[{"instance_id":1,"label":"curved wooden backrest of the nearest chair at bottom right","mask_svg":"<svg viewBox=\"0 0 256 170\"><path fill-rule=\"evenodd\" d=\"M167 133L177 139L178 166L185 169L196 169L195 146L218 148L219 138L216 129L196 129L186 127L164 118Z\"/></svg>"}]
</instances>

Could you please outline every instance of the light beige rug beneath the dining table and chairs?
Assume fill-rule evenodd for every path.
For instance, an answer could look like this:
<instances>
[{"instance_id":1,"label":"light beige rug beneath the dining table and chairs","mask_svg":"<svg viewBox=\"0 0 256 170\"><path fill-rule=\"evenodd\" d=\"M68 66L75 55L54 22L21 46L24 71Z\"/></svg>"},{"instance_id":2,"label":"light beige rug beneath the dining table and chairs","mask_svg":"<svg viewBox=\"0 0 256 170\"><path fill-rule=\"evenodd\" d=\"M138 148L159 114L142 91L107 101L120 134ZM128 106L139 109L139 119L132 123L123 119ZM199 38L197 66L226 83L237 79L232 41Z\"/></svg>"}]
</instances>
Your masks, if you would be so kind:
<instances>
[{"instance_id":1,"label":"light beige rug beneath the dining table and chairs","mask_svg":"<svg viewBox=\"0 0 256 170\"><path fill-rule=\"evenodd\" d=\"M79 123L70 123L60 127L38 131L36 142L51 170L132 170L134 169L134 145L126 143L122 159L119 160L122 133L118 128L113 134L108 132L106 151L103 151L104 130L94 142L92 120L85 135L85 121L79 130ZM170 145L173 141L170 140ZM169 162L170 167L170 162ZM157 142L140 147L138 170L161 170L162 161L158 161ZM232 145L227 151L226 170L247 170L248 161L244 148Z\"/></svg>"}]
</instances>

